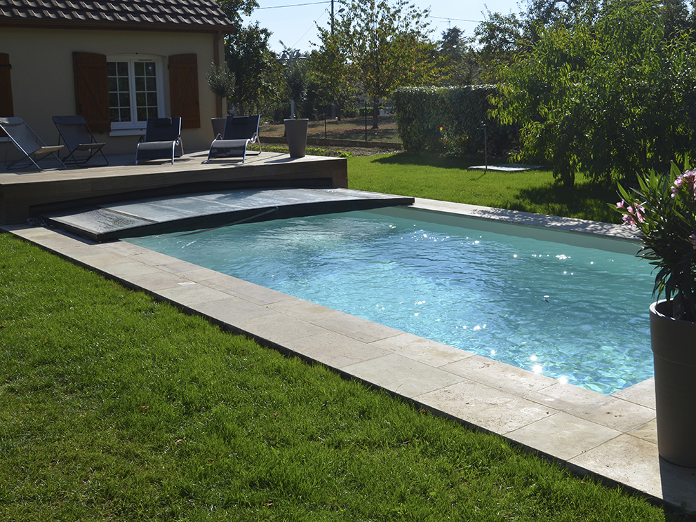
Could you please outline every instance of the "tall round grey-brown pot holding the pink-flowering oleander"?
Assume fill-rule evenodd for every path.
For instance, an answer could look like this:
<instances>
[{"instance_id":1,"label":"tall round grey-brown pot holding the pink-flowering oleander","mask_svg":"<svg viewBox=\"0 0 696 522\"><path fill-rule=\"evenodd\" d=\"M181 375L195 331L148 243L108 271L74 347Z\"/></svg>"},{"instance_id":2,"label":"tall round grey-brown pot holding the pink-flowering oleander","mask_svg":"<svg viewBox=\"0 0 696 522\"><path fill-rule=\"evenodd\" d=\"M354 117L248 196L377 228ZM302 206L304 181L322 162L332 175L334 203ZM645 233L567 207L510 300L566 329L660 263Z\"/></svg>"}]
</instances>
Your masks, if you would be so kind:
<instances>
[{"instance_id":1,"label":"tall round grey-brown pot holding the pink-flowering oleander","mask_svg":"<svg viewBox=\"0 0 696 522\"><path fill-rule=\"evenodd\" d=\"M657 451L673 464L696 467L696 323L670 314L665 300L650 305Z\"/></svg>"}]
</instances>

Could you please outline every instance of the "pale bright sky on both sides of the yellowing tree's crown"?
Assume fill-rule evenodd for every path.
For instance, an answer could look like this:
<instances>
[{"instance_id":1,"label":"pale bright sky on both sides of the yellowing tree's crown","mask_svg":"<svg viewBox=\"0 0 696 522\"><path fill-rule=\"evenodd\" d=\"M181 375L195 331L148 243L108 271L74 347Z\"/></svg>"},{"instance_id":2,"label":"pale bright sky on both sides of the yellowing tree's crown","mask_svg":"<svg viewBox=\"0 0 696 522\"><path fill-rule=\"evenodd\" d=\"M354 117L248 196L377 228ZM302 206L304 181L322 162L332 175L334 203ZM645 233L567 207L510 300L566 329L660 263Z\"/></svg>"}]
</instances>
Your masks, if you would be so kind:
<instances>
[{"instance_id":1,"label":"pale bright sky on both sides of the yellowing tree's crown","mask_svg":"<svg viewBox=\"0 0 696 522\"><path fill-rule=\"evenodd\" d=\"M288 48L304 53L312 51L312 44L319 44L316 26L328 27L331 13L330 0L258 0L259 8L250 16L243 16L245 25L256 20L261 27L273 34L269 40L272 51L283 51L283 41ZM491 13L518 13L516 0L411 0L420 10L430 8L430 23L435 29L432 35L439 39L443 31L459 27L465 36L473 36L474 29L483 20L486 8ZM334 0L334 13L341 8Z\"/></svg>"}]
</instances>

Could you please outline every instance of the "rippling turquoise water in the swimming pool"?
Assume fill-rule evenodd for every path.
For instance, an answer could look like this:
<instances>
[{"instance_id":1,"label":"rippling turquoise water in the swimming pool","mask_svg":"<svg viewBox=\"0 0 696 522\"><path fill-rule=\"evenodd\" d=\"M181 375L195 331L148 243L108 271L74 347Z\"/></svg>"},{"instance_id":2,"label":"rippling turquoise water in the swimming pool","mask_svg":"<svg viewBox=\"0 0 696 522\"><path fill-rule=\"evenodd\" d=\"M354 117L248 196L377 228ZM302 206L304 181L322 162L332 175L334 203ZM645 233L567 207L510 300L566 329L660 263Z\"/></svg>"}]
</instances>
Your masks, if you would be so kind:
<instances>
[{"instance_id":1,"label":"rippling turquoise water in the swimming pool","mask_svg":"<svg viewBox=\"0 0 696 522\"><path fill-rule=\"evenodd\" d=\"M603 394L652 377L634 255L370 212L126 241Z\"/></svg>"}]
</instances>

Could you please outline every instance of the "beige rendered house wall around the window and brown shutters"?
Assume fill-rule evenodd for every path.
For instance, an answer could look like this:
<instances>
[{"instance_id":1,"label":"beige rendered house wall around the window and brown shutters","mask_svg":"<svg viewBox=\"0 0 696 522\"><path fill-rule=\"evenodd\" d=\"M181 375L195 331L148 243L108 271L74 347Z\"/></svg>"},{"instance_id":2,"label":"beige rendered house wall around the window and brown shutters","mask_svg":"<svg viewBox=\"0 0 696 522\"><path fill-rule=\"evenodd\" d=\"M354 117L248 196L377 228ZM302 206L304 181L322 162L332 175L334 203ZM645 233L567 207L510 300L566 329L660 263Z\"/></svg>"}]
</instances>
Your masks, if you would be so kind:
<instances>
[{"instance_id":1,"label":"beige rendered house wall around the window and brown shutters","mask_svg":"<svg viewBox=\"0 0 696 522\"><path fill-rule=\"evenodd\" d=\"M191 32L142 32L76 29L0 29L0 53L10 55L13 109L47 145L58 143L51 116L76 113L72 53L117 55L143 53L159 55L163 60L164 109L171 115L167 57L195 53L198 60L199 107L201 127L182 130L185 152L208 149L213 140L210 118L215 114L215 95L206 83L206 72L215 60L217 34ZM225 53L219 43L220 60ZM0 114L0 116L5 116ZM137 135L97 134L98 141L107 142L106 154L133 153Z\"/></svg>"}]
</instances>

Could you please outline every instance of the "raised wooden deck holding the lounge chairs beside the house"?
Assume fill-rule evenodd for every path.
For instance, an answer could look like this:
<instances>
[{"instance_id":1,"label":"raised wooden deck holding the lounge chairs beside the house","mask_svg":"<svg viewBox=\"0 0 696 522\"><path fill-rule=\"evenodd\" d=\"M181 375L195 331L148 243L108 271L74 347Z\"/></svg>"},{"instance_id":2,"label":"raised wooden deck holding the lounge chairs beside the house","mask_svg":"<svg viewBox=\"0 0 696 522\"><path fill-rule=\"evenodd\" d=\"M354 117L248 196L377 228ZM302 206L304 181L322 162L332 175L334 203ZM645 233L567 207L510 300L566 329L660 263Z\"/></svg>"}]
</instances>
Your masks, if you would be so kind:
<instances>
[{"instance_id":1,"label":"raised wooden deck holding the lounge chairs beside the house","mask_svg":"<svg viewBox=\"0 0 696 522\"><path fill-rule=\"evenodd\" d=\"M123 199L184 194L215 189L250 187L347 188L344 158L263 152L239 159L205 163L208 151L193 152L167 161L135 166L134 155L109 156L109 166L0 169L0 225L25 222L29 217L61 208ZM99 165L97 158L93 159ZM1 166L4 169L4 165Z\"/></svg>"}]
</instances>

